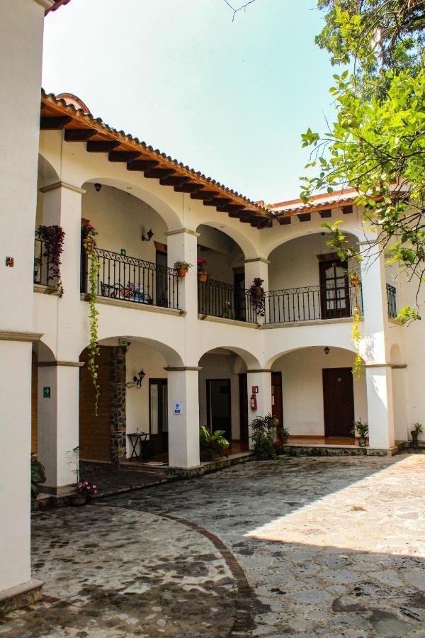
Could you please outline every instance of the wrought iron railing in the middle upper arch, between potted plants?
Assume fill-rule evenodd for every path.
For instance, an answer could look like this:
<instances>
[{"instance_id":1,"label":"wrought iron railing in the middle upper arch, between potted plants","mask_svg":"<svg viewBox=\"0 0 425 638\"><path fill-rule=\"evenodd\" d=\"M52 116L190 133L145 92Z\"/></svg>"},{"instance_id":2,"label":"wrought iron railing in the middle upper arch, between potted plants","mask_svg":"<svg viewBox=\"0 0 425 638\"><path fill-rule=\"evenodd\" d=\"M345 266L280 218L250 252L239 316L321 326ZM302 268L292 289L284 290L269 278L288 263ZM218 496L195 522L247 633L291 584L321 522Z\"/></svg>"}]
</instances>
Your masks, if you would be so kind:
<instances>
[{"instance_id":1,"label":"wrought iron railing in the middle upper arch, between potted plants","mask_svg":"<svg viewBox=\"0 0 425 638\"><path fill-rule=\"evenodd\" d=\"M215 279L208 279L205 284L198 282L198 313L247 323L257 320L249 290Z\"/></svg>"}]
</instances>

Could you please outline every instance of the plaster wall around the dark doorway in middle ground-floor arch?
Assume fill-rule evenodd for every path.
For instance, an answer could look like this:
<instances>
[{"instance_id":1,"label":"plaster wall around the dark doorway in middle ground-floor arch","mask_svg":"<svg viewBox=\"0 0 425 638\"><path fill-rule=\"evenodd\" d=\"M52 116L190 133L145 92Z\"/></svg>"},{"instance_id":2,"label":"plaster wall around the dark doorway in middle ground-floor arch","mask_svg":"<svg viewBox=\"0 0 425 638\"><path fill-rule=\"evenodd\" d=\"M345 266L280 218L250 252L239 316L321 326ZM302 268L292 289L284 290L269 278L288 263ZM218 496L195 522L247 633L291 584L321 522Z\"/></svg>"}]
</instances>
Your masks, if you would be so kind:
<instances>
[{"instance_id":1,"label":"plaster wall around the dark doorway in middle ground-floor arch","mask_svg":"<svg viewBox=\"0 0 425 638\"><path fill-rule=\"evenodd\" d=\"M239 420L239 376L234 374L239 357L233 352L228 354L204 354L199 365L199 422L207 425L207 379L230 379L232 439L240 439Z\"/></svg>"}]
</instances>

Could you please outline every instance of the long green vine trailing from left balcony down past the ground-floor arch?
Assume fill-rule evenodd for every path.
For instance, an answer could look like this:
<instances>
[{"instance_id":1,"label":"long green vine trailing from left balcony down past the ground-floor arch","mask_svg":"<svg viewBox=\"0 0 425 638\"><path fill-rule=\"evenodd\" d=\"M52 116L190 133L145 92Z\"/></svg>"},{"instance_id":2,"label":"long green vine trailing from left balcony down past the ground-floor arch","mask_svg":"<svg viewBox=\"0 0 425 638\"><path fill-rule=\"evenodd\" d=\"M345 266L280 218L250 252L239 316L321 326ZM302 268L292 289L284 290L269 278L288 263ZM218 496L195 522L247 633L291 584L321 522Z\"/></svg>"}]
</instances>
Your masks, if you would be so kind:
<instances>
[{"instance_id":1,"label":"long green vine trailing from left balcony down past the ground-floor arch","mask_svg":"<svg viewBox=\"0 0 425 638\"><path fill-rule=\"evenodd\" d=\"M100 386L98 384L98 364L96 363L96 357L98 356L100 349L98 346L98 310L96 308L96 296L97 296L97 284L98 274L101 267L98 254L96 252L96 240L97 235L94 226L89 223L84 223L81 228L81 241L86 251L88 261L90 262L89 271L89 322L90 322L90 340L87 350L89 352L89 360L87 362L87 368L91 374L93 381L95 395L94 395L94 413L98 415L98 398L100 396Z\"/></svg>"}]
</instances>

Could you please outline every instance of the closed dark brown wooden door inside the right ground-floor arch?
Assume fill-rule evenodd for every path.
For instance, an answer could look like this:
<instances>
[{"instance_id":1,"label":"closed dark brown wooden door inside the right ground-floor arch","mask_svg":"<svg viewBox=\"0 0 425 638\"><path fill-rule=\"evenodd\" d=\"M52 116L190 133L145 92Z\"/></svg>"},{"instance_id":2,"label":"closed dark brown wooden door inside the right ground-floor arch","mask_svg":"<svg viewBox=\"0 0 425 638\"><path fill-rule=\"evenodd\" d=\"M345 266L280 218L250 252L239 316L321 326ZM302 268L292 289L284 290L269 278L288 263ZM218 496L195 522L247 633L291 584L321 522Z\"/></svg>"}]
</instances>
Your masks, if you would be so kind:
<instances>
[{"instance_id":1,"label":"closed dark brown wooden door inside the right ground-floor arch","mask_svg":"<svg viewBox=\"0 0 425 638\"><path fill-rule=\"evenodd\" d=\"M352 437L354 420L351 368L323 369L324 435Z\"/></svg>"}]
</instances>

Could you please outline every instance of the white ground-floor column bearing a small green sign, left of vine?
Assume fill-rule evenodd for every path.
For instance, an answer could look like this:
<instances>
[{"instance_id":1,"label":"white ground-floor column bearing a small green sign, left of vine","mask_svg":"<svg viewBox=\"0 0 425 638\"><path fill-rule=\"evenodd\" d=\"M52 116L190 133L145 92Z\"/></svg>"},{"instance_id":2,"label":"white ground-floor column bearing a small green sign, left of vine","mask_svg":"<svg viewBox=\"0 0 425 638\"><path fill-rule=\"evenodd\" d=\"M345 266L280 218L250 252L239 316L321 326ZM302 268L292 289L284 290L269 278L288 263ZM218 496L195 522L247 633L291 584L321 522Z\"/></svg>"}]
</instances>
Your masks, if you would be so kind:
<instances>
[{"instance_id":1,"label":"white ground-floor column bearing a small green sign, left of vine","mask_svg":"<svg viewBox=\"0 0 425 638\"><path fill-rule=\"evenodd\" d=\"M77 481L72 450L79 442L81 364L39 361L38 366L38 459L46 471L42 489L60 495Z\"/></svg>"}]
</instances>

